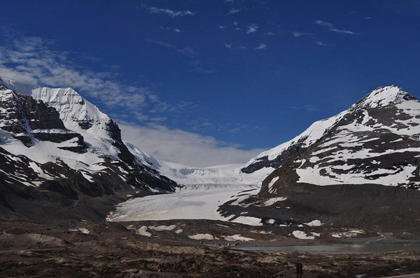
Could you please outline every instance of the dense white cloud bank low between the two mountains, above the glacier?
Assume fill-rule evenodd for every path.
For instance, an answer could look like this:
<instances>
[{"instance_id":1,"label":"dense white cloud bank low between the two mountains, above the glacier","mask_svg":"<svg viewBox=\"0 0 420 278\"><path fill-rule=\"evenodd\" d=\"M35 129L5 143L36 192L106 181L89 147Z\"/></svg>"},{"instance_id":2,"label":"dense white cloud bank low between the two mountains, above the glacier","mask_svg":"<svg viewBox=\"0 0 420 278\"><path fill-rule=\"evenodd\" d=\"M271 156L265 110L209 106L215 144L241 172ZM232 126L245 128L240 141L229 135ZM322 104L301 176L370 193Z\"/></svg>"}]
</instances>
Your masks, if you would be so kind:
<instances>
[{"instance_id":1,"label":"dense white cloud bank low between the two mountains, above the glacier","mask_svg":"<svg viewBox=\"0 0 420 278\"><path fill-rule=\"evenodd\" d=\"M246 163L264 149L243 150L226 146L211 136L201 136L165 126L132 126L118 124L123 140L131 142L156 159L204 167Z\"/></svg>"}]
</instances>

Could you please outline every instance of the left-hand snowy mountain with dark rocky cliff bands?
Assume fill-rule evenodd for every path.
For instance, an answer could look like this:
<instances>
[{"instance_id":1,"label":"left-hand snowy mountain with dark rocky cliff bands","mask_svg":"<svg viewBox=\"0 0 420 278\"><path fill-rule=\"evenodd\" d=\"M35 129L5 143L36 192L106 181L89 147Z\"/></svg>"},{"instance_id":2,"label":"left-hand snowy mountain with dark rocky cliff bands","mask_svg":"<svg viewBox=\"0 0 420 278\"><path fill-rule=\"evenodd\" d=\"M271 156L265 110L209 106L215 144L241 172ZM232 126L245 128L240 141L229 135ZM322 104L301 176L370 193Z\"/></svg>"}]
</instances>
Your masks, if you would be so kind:
<instances>
[{"instance_id":1,"label":"left-hand snowy mountain with dark rocky cliff bands","mask_svg":"<svg viewBox=\"0 0 420 278\"><path fill-rule=\"evenodd\" d=\"M129 151L111 118L70 88L1 78L0 152L0 202L10 213L22 196L41 191L76 200L176 188Z\"/></svg>"}]
</instances>

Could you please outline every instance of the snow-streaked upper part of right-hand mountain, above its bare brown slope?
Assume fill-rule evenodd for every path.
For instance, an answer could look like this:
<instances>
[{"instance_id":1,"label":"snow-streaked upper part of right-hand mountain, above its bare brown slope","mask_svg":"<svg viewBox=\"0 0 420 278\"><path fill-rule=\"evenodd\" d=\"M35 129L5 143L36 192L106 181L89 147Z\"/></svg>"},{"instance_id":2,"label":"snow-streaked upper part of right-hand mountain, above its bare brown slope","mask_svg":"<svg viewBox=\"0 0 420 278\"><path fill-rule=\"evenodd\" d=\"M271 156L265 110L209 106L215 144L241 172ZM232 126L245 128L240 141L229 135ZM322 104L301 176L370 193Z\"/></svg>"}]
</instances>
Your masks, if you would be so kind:
<instances>
[{"instance_id":1,"label":"snow-streaked upper part of right-hand mountain, above its bare brown slope","mask_svg":"<svg viewBox=\"0 0 420 278\"><path fill-rule=\"evenodd\" d=\"M297 175L295 182L419 188L419 139L419 101L398 87L381 87L348 110L263 152L242 170L288 165ZM282 181L270 178L276 179L266 182L274 193Z\"/></svg>"}]
</instances>

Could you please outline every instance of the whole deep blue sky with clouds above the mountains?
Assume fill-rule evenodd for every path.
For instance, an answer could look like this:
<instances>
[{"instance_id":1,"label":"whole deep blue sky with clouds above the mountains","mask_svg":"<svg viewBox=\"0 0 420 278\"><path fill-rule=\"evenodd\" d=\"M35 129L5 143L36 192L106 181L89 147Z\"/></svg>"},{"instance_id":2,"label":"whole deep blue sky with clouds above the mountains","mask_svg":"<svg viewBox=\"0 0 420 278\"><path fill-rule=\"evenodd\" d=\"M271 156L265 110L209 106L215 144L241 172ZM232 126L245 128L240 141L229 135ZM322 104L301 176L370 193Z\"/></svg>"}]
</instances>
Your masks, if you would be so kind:
<instances>
[{"instance_id":1,"label":"whole deep blue sky with clouds above the mountains","mask_svg":"<svg viewBox=\"0 0 420 278\"><path fill-rule=\"evenodd\" d=\"M3 1L0 76L72 87L158 159L246 162L379 86L419 97L420 1Z\"/></svg>"}]
</instances>

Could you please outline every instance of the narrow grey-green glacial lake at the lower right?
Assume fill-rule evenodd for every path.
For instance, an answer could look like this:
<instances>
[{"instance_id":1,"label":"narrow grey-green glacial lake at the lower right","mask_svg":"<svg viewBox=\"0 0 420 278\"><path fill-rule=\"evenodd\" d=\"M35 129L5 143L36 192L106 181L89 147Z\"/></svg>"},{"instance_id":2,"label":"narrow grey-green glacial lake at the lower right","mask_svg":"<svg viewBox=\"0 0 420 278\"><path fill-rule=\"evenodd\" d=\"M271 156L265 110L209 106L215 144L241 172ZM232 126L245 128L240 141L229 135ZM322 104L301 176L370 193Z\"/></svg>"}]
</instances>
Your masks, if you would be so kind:
<instances>
[{"instance_id":1,"label":"narrow grey-green glacial lake at the lower right","mask_svg":"<svg viewBox=\"0 0 420 278\"><path fill-rule=\"evenodd\" d=\"M237 247L250 251L302 251L332 253L386 253L392 251L420 250L420 243L370 243L370 244L332 244L332 245L293 245L293 246L257 246Z\"/></svg>"}]
</instances>

